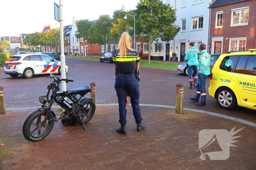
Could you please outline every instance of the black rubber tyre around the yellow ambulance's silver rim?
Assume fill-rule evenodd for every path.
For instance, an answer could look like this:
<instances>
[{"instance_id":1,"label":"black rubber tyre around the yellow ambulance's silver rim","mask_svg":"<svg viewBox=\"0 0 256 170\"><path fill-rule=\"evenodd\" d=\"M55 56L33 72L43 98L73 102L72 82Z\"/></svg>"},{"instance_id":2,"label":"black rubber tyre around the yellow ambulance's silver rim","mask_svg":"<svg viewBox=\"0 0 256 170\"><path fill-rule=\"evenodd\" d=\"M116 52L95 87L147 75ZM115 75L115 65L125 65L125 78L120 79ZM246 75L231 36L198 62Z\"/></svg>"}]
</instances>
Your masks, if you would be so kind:
<instances>
[{"instance_id":1,"label":"black rubber tyre around the yellow ambulance's silver rim","mask_svg":"<svg viewBox=\"0 0 256 170\"><path fill-rule=\"evenodd\" d=\"M226 99L226 101L228 101L230 103L229 106L223 106L223 104L225 104L224 102L220 102L220 100L222 100L223 94L228 95L227 97L230 98L230 100ZM221 95L221 96L220 96ZM225 97L225 96L224 96ZM230 90L229 88L223 87L221 89L219 89L216 93L216 101L218 103L218 105L226 110L231 110L236 108L237 106L237 98L236 95L234 94L234 92L232 90Z\"/></svg>"}]
</instances>

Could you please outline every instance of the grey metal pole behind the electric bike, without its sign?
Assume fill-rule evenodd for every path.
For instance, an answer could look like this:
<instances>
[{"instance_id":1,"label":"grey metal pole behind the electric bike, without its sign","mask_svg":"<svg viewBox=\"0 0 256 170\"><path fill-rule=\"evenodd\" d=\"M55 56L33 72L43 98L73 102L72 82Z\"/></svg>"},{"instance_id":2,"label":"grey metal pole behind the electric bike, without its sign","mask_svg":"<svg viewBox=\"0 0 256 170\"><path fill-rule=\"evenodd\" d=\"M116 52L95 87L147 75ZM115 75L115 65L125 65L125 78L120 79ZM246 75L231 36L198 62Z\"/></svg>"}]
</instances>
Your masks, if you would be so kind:
<instances>
[{"instance_id":1,"label":"grey metal pole behind the electric bike, without its sign","mask_svg":"<svg viewBox=\"0 0 256 170\"><path fill-rule=\"evenodd\" d=\"M63 3L60 0L60 67L61 67L61 79L66 78L66 67L65 67L65 55L64 55L64 33L63 33ZM61 91L66 91L66 82L61 82Z\"/></svg>"}]
</instances>

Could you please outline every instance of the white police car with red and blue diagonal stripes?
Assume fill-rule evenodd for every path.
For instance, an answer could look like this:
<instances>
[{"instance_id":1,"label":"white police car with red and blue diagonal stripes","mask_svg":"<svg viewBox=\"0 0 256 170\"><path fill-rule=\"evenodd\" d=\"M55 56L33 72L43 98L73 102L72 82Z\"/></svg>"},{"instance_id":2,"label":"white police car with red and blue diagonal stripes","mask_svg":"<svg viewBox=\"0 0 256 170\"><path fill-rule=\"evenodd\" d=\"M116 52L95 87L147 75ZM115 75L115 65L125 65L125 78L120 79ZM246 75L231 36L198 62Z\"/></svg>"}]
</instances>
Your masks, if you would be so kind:
<instances>
[{"instance_id":1,"label":"white police car with red and blue diagonal stripes","mask_svg":"<svg viewBox=\"0 0 256 170\"><path fill-rule=\"evenodd\" d=\"M68 71L67 65L65 65ZM4 63L4 72L12 77L23 75L31 78L35 74L59 73L61 74L60 61L44 54L20 54L10 56Z\"/></svg>"}]
</instances>

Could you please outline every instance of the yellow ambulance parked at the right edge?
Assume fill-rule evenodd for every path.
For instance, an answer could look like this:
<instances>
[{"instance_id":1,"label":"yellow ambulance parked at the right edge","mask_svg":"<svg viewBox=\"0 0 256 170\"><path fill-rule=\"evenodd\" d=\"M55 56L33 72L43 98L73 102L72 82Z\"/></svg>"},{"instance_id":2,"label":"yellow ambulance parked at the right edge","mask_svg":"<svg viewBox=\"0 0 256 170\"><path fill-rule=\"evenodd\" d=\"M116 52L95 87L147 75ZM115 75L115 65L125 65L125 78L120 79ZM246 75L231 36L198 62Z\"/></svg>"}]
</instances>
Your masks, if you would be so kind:
<instances>
[{"instance_id":1,"label":"yellow ambulance parked at the right edge","mask_svg":"<svg viewBox=\"0 0 256 170\"><path fill-rule=\"evenodd\" d=\"M212 68L208 91L221 108L256 110L256 49L222 54Z\"/></svg>"}]
</instances>

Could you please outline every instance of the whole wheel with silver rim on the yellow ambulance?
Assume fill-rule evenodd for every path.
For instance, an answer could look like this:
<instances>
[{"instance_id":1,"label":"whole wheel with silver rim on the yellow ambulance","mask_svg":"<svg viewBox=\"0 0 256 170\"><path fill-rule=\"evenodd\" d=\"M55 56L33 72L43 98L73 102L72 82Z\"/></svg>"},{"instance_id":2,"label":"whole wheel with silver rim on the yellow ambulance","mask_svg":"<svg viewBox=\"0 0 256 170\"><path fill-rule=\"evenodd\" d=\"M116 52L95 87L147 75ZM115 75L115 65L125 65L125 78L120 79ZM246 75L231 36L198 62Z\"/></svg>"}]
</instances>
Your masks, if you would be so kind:
<instances>
[{"instance_id":1,"label":"whole wheel with silver rim on the yellow ambulance","mask_svg":"<svg viewBox=\"0 0 256 170\"><path fill-rule=\"evenodd\" d=\"M216 100L219 106L226 110L234 109L237 106L236 95L232 90L226 87L218 90Z\"/></svg>"}]
</instances>

